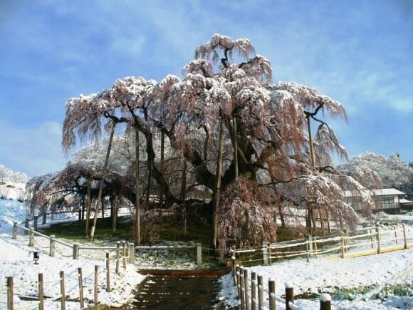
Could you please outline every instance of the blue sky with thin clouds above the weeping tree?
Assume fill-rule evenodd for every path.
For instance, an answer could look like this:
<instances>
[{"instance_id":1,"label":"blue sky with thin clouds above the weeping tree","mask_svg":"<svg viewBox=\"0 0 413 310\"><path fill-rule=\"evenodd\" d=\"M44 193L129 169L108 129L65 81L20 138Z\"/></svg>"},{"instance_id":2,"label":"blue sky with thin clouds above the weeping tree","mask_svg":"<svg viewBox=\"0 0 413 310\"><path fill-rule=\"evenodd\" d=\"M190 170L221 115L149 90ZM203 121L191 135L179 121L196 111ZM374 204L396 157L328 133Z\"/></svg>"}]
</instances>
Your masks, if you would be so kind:
<instances>
[{"instance_id":1,"label":"blue sky with thin clouds above the weeping tree","mask_svg":"<svg viewBox=\"0 0 413 310\"><path fill-rule=\"evenodd\" d=\"M273 67L342 102L350 157L413 161L413 1L0 1L0 164L61 170L65 103L117 78L180 76L213 33L249 38Z\"/></svg>"}]
</instances>

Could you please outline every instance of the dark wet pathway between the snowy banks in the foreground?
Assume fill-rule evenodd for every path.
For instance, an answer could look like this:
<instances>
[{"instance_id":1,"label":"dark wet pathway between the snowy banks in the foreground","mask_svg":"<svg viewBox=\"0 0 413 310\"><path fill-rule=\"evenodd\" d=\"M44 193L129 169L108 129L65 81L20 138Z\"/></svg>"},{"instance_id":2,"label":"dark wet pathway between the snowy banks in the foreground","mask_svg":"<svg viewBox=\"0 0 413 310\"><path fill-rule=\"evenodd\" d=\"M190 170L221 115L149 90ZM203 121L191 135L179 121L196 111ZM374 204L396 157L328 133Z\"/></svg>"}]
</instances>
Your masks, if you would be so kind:
<instances>
[{"instance_id":1,"label":"dark wet pathway between the snowy banks in the foreground","mask_svg":"<svg viewBox=\"0 0 413 310\"><path fill-rule=\"evenodd\" d=\"M226 309L219 304L219 277L148 276L136 309Z\"/></svg>"}]
</instances>

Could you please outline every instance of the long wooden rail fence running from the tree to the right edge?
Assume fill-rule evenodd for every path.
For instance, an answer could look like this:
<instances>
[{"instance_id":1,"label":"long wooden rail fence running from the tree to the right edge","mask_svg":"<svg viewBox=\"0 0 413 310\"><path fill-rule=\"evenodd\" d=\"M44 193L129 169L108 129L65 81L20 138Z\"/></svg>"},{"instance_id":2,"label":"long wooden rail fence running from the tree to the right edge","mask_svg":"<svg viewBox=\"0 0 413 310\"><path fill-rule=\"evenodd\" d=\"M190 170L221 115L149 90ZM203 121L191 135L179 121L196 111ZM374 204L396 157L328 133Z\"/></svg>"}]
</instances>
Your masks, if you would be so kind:
<instances>
[{"instance_id":1,"label":"long wooden rail fence running from the tree to the right edge","mask_svg":"<svg viewBox=\"0 0 413 310\"><path fill-rule=\"evenodd\" d=\"M269 244L263 242L262 247L254 249L233 249L231 256L236 257L237 264L269 265L280 259L294 257L311 258L335 256L341 258L360 257L370 254L391 252L399 249L413 248L412 227L367 227L348 232L343 230L332 237L312 237L288 242Z\"/></svg>"}]
</instances>

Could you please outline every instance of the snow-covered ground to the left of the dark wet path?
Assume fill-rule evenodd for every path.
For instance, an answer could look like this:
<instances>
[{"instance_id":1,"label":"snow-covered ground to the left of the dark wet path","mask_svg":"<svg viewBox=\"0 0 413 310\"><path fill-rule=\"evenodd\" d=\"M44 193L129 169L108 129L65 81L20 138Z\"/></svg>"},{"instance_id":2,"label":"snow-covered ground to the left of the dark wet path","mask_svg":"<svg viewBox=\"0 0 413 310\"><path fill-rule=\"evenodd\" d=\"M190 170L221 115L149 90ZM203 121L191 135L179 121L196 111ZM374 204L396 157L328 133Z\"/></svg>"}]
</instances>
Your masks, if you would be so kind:
<instances>
[{"instance_id":1,"label":"snow-covered ground to the left of the dark wet path","mask_svg":"<svg viewBox=\"0 0 413 310\"><path fill-rule=\"evenodd\" d=\"M28 247L27 242L11 238L13 222L23 222L26 218L26 208L23 203L14 200L0 200L0 309L6 309L6 277L14 278L14 294L24 296L37 295L38 274L43 273L44 294L49 298L45 309L60 309L60 302L52 299L60 293L60 271L65 272L66 295L69 299L78 299L78 268L82 268L83 283L85 284L84 296L86 305L93 304L93 284L95 265L99 265L100 285L98 300L103 304L121 306L131 301L137 284L145 277L137 269L128 264L127 269L120 268L120 274L115 273L111 267L111 291L106 291L106 272L103 261L92 262L85 259L73 260L71 258L49 257L41 254L38 264L33 263L33 247ZM28 304L33 306L28 307ZM14 305L17 308L37 309L33 301L20 301L14 296ZM26 307L27 306L27 307ZM66 309L79 309L78 302L66 302Z\"/></svg>"}]
</instances>

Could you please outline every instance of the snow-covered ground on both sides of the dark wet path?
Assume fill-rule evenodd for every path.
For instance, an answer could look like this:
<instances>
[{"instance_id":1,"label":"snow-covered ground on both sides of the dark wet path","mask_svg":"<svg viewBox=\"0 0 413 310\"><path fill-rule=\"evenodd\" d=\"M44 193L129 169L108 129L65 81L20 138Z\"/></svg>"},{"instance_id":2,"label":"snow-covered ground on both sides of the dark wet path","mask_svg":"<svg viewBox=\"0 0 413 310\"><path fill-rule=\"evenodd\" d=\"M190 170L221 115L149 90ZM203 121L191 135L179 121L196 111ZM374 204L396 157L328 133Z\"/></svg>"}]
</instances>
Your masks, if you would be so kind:
<instances>
[{"instance_id":1,"label":"snow-covered ground on both sides of the dark wet path","mask_svg":"<svg viewBox=\"0 0 413 310\"><path fill-rule=\"evenodd\" d=\"M80 260L71 258L49 257L41 254L39 264L33 264L33 248L28 247L27 240L11 238L12 223L23 222L27 212L23 203L14 200L0 200L0 309L5 308L6 303L6 277L14 277L15 294L36 295L36 282L38 273L43 273L45 281L45 294L56 297L60 294L58 284L59 272L65 272L66 293L70 299L78 298L77 270L82 268L83 279L88 288L85 289L85 298L88 303L93 301L93 272L95 264L99 264L100 286L99 301L113 306L120 306L131 301L135 294L133 290L144 278L135 267L127 266L121 270L121 274L115 274L115 268L111 268L111 291L106 292L105 268L103 261L87 261L83 257ZM408 219L408 218L407 218ZM58 256L58 255L56 255ZM151 259L149 259L151 260ZM295 294L322 292L337 292L338 289L354 289L352 301L347 300L350 293L345 295L347 299L333 296L333 309L413 309L413 291L408 296L394 296L390 294L386 299L377 299L375 294L385 284L404 284L404 287L413 287L413 249L377 254L368 257L354 259L330 259L323 257L306 262L305 259L293 259L277 262L270 267L252 267L249 269L263 276L263 283L268 279L276 280L276 294L284 293L284 283L293 284ZM221 300L229 306L239 304L236 299L236 289L230 275L221 278ZM357 293L360 288L367 288L362 293ZM344 290L343 290L344 291ZM23 306L30 301L19 301L15 296L16 306ZM267 301L268 302L268 301ZM23 304L19 304L23 303ZM298 299L296 304L302 309L318 309L318 299ZM79 309L78 302L69 302L67 309ZM268 306L268 304L267 304ZM284 305L278 302L278 309L284 309ZM36 306L33 306L36 309ZM60 309L60 303L47 301L46 309Z\"/></svg>"}]
</instances>

